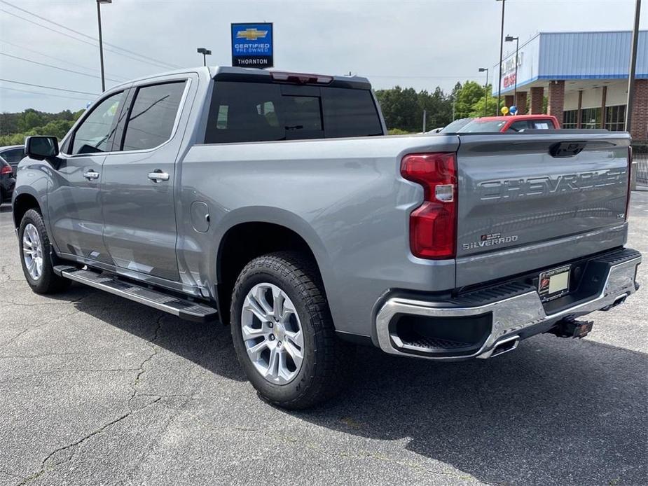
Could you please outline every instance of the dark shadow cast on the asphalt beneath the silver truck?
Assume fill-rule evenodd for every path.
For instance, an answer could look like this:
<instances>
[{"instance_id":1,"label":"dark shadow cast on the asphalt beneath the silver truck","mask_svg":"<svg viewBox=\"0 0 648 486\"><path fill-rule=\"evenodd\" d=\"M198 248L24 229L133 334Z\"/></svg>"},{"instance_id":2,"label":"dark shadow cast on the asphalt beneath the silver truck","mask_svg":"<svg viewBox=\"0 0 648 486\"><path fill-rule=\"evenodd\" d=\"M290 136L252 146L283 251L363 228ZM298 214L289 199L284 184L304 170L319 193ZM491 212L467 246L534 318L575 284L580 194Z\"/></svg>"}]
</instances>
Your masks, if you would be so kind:
<instances>
[{"instance_id":1,"label":"dark shadow cast on the asphalt beneath the silver truck","mask_svg":"<svg viewBox=\"0 0 648 486\"><path fill-rule=\"evenodd\" d=\"M245 380L226 326L181 321L85 288L78 295L88 292L92 298L75 303L78 310L144 340L155 338L213 373ZM73 287L60 298L76 294ZM504 356L463 363L359 347L352 366L342 396L315 410L283 412L362 438L405 439L406 450L460 472L419 464L407 454L380 457L451 474L450 483L472 476L506 485L648 484L646 354L541 335ZM373 450L369 443L359 454L378 457Z\"/></svg>"}]
</instances>

